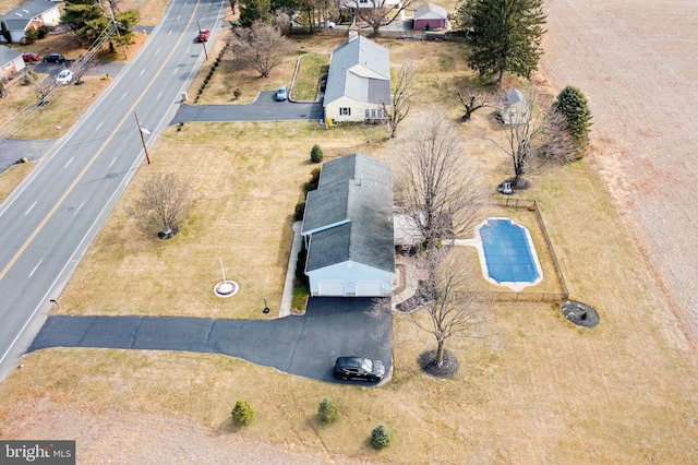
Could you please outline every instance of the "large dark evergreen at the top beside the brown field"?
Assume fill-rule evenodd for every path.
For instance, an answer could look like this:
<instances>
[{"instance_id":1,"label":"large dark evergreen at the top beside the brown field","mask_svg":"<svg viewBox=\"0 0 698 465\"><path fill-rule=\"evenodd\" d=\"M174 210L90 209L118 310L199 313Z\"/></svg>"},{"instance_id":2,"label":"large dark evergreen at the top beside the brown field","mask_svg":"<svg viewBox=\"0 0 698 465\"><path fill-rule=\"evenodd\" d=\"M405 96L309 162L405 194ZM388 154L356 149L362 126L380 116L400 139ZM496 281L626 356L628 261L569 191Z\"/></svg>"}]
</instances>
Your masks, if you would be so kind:
<instances>
[{"instance_id":1,"label":"large dark evergreen at the top beside the brown field","mask_svg":"<svg viewBox=\"0 0 698 465\"><path fill-rule=\"evenodd\" d=\"M458 23L472 25L468 64L480 74L529 78L538 68L546 15L543 0L465 0Z\"/></svg>"}]
</instances>

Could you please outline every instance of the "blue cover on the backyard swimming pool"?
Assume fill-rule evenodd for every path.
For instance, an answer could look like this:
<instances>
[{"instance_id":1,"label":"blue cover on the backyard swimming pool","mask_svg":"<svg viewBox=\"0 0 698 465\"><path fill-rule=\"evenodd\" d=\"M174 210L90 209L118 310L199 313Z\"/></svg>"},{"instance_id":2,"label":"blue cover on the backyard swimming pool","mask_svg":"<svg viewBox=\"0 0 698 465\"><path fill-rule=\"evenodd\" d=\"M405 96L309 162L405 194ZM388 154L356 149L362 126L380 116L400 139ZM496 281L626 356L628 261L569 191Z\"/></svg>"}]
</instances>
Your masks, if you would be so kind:
<instances>
[{"instance_id":1,"label":"blue cover on the backyard swimming pool","mask_svg":"<svg viewBox=\"0 0 698 465\"><path fill-rule=\"evenodd\" d=\"M539 277L528 236L510 219L488 219L480 228L490 277L497 283L532 283Z\"/></svg>"}]
</instances>

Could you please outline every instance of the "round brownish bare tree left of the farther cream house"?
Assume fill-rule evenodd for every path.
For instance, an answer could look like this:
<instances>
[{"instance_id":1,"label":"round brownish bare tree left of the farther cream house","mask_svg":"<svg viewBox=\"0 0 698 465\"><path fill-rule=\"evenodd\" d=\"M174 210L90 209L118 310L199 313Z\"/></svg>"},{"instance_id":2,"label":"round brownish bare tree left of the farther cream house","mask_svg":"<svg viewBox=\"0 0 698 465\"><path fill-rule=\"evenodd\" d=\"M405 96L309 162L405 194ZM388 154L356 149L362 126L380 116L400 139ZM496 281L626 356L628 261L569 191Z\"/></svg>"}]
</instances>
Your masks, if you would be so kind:
<instances>
[{"instance_id":1,"label":"round brownish bare tree left of the farther cream house","mask_svg":"<svg viewBox=\"0 0 698 465\"><path fill-rule=\"evenodd\" d=\"M257 70L263 78L268 78L269 72L293 50L293 43L279 29L260 21L248 28L237 27L231 40L236 58Z\"/></svg>"}]
</instances>

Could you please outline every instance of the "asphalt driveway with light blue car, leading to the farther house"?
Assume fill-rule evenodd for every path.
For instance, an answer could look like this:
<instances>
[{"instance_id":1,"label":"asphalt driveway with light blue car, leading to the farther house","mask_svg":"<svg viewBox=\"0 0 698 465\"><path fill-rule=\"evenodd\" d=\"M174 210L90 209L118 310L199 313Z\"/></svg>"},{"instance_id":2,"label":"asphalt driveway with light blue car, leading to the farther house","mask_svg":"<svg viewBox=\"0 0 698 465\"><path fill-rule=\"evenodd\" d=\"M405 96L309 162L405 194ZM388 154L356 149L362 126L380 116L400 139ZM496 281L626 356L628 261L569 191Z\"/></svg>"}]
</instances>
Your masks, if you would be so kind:
<instances>
[{"instance_id":1,"label":"asphalt driveway with light blue car, leading to the farther house","mask_svg":"<svg viewBox=\"0 0 698 465\"><path fill-rule=\"evenodd\" d=\"M256 100L246 105L181 105L170 124L179 122L226 121L292 121L322 120L323 104L318 102L276 102L276 92L260 92Z\"/></svg>"}]
</instances>

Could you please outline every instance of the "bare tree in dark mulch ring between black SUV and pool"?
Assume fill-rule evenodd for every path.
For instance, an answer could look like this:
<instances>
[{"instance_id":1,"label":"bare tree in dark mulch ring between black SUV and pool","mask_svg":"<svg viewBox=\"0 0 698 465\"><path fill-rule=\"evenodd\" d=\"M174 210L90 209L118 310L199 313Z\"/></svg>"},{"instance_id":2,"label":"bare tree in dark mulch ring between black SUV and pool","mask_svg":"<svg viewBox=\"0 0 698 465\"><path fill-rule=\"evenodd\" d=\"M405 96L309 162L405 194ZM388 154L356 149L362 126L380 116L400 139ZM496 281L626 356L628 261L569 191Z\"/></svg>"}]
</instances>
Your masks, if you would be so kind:
<instances>
[{"instance_id":1,"label":"bare tree in dark mulch ring between black SUV and pool","mask_svg":"<svg viewBox=\"0 0 698 465\"><path fill-rule=\"evenodd\" d=\"M477 303L476 295L467 291L464 262L453 253L452 247L428 251L418 263L428 278L420 283L412 297L414 310L407 314L420 330L434 336L434 361L442 367L446 342L464 337L484 338L489 319ZM428 318L421 318L420 313Z\"/></svg>"}]
</instances>

